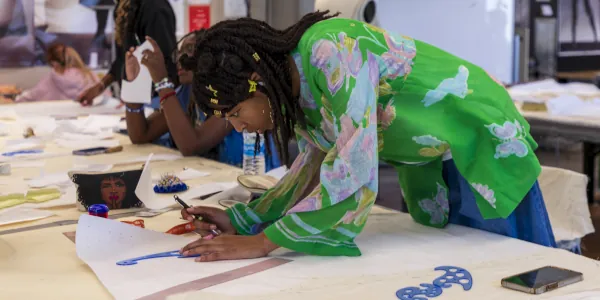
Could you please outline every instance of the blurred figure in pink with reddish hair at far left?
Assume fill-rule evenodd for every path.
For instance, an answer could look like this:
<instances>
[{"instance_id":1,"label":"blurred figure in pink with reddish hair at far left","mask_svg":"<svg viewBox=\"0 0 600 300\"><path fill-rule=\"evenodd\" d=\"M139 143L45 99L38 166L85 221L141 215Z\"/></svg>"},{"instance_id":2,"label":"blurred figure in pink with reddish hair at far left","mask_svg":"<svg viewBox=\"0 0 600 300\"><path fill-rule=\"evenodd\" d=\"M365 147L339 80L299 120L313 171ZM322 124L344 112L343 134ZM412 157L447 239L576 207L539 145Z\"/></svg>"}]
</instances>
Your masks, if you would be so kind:
<instances>
[{"instance_id":1,"label":"blurred figure in pink with reddish hair at far left","mask_svg":"<svg viewBox=\"0 0 600 300\"><path fill-rule=\"evenodd\" d=\"M52 70L30 90L17 96L15 102L74 100L82 89L96 85L99 80L83 63L75 49L54 44L46 51Z\"/></svg>"}]
</instances>

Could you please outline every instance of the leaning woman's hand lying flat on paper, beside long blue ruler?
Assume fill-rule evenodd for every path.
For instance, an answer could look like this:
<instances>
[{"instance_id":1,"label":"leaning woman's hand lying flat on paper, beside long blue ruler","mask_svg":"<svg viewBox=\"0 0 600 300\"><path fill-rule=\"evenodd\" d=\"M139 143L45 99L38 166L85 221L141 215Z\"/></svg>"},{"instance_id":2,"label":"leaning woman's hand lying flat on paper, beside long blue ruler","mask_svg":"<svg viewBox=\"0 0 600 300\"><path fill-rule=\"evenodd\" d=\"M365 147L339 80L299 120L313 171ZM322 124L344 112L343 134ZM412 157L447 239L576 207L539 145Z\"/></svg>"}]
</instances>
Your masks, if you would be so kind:
<instances>
[{"instance_id":1,"label":"leaning woman's hand lying flat on paper, beside long blue ruler","mask_svg":"<svg viewBox=\"0 0 600 300\"><path fill-rule=\"evenodd\" d=\"M192 242L183 247L181 253L184 256L200 254L196 261L207 262L265 257L278 247L263 233L253 236L224 235Z\"/></svg>"}]
</instances>

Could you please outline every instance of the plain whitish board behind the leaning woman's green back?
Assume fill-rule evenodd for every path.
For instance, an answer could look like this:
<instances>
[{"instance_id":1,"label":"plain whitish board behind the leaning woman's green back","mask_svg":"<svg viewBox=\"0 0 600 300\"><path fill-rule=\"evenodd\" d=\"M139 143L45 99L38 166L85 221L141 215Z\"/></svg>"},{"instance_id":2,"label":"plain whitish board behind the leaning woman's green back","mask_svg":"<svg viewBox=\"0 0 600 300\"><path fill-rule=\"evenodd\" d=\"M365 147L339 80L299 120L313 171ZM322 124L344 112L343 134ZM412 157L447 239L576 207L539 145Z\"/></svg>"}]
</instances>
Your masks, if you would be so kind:
<instances>
[{"instance_id":1,"label":"plain whitish board behind the leaning woman's green back","mask_svg":"<svg viewBox=\"0 0 600 300\"><path fill-rule=\"evenodd\" d=\"M378 0L381 27L514 77L514 0Z\"/></svg>"}]
</instances>

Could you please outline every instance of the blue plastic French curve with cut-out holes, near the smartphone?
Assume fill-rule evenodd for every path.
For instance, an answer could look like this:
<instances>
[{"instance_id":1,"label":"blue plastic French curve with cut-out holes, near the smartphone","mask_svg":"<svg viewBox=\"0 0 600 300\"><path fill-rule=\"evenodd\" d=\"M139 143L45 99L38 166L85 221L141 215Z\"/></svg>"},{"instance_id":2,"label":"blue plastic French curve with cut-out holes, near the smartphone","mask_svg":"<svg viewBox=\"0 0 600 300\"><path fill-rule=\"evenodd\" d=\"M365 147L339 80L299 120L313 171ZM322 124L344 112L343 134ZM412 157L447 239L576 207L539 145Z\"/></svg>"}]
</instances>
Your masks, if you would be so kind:
<instances>
[{"instance_id":1,"label":"blue plastic French curve with cut-out holes, near the smartphone","mask_svg":"<svg viewBox=\"0 0 600 300\"><path fill-rule=\"evenodd\" d=\"M421 283L421 287L405 287L396 292L396 297L400 300L428 300L435 298L443 293L443 289L452 287L452 284L462 285L465 291L473 287L473 277L469 271L451 266L441 266L435 271L445 271L444 275L436 278L431 283Z\"/></svg>"}]
</instances>

